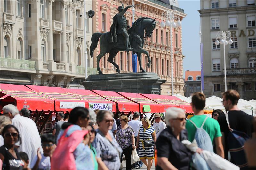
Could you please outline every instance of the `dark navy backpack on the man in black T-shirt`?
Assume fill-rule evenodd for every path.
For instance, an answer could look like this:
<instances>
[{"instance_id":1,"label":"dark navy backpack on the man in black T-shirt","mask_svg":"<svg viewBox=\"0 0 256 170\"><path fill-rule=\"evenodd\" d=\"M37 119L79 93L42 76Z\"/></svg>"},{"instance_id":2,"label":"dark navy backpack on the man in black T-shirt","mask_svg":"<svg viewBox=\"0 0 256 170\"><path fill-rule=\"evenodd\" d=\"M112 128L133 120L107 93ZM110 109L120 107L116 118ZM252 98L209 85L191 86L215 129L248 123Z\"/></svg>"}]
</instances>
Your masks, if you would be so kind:
<instances>
[{"instance_id":1,"label":"dark navy backpack on the man in black T-shirt","mask_svg":"<svg viewBox=\"0 0 256 170\"><path fill-rule=\"evenodd\" d=\"M244 132L231 129L228 121L228 114L225 116L229 128L227 143L229 146L231 162L239 166L240 169L247 169L248 162L245 155L244 143L249 139L249 136Z\"/></svg>"}]
</instances>

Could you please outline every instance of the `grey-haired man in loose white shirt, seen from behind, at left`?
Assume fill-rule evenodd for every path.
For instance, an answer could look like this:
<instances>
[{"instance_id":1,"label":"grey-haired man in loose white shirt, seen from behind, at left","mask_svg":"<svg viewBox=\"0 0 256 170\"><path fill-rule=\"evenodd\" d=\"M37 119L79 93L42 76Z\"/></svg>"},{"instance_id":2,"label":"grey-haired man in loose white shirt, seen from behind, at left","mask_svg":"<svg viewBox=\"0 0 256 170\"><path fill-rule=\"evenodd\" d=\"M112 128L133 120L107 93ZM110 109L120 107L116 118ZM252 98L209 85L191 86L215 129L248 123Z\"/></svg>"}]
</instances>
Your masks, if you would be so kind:
<instances>
[{"instance_id":1,"label":"grey-haired man in loose white shirt, seen from behind, at left","mask_svg":"<svg viewBox=\"0 0 256 170\"><path fill-rule=\"evenodd\" d=\"M3 113L12 119L12 125L18 129L21 143L15 145L19 146L19 152L28 154L30 164L36 156L38 148L43 152L36 123L30 118L21 116L17 107L12 104L4 106Z\"/></svg>"}]
</instances>

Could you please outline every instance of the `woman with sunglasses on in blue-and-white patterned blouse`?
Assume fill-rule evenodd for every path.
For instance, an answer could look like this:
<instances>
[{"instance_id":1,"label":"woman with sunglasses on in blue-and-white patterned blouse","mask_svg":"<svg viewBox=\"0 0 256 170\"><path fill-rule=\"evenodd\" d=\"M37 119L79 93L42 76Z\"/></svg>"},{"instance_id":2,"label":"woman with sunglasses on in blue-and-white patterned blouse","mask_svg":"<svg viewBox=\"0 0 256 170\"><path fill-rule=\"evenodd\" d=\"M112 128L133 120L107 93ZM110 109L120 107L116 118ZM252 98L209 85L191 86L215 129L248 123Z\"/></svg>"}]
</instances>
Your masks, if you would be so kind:
<instances>
[{"instance_id":1,"label":"woman with sunglasses on in blue-and-white patterned blouse","mask_svg":"<svg viewBox=\"0 0 256 170\"><path fill-rule=\"evenodd\" d=\"M97 134L92 145L97 151L99 169L119 170L122 148L111 131L114 123L113 113L107 110L99 111L97 123L99 129L96 130Z\"/></svg>"}]
</instances>

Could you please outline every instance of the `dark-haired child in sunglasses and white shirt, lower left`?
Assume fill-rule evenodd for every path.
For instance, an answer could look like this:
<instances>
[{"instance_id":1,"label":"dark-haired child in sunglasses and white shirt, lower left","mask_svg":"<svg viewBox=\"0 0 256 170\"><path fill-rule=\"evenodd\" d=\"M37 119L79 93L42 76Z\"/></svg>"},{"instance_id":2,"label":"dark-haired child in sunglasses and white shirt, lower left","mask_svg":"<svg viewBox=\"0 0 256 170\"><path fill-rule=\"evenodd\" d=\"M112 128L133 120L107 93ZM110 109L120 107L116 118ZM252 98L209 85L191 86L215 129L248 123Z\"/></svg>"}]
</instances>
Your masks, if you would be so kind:
<instances>
[{"instance_id":1,"label":"dark-haired child in sunglasses and white shirt, lower left","mask_svg":"<svg viewBox=\"0 0 256 170\"><path fill-rule=\"evenodd\" d=\"M55 138L50 134L44 134L41 136L42 148L44 153L40 153L40 148L37 150L37 156L31 162L32 170L43 169L50 170L51 169L51 161L50 157L52 156L53 151L56 148Z\"/></svg>"}]
</instances>

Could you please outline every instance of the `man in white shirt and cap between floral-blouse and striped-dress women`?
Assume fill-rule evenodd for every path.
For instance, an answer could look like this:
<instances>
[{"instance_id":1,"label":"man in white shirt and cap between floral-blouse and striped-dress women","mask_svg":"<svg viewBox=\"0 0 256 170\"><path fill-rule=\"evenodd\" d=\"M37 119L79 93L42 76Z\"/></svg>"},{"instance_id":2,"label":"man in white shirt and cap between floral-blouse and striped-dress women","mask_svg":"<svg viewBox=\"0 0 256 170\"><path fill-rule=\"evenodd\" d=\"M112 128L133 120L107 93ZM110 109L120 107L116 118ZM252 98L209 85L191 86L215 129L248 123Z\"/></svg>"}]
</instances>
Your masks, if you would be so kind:
<instances>
[{"instance_id":1,"label":"man in white shirt and cap between floral-blouse and striped-dress women","mask_svg":"<svg viewBox=\"0 0 256 170\"><path fill-rule=\"evenodd\" d=\"M133 131L134 131L134 138L135 138L135 144L136 144L136 141L137 141L137 136L138 136L138 133L139 133L139 129L140 127L142 126L142 122L140 122L138 119L140 117L140 113L139 112L134 112L133 114L133 120L131 120L130 122L128 122L128 125L132 127ZM137 153L139 155L139 149L137 149ZM139 165L137 162L135 162L133 164L133 166L135 166L135 168L138 168L138 166L141 168L142 167L142 162L139 161Z\"/></svg>"}]
</instances>

